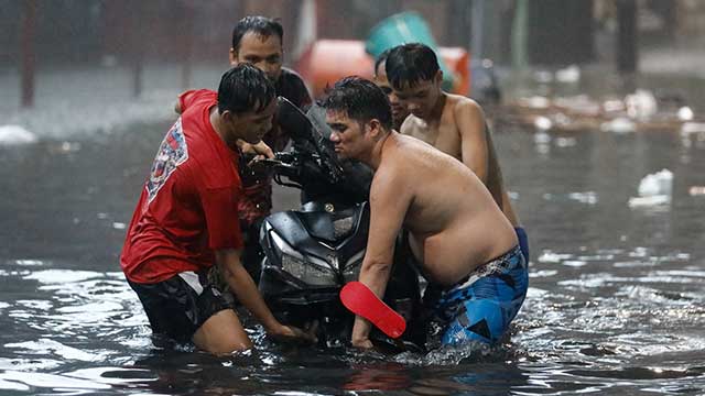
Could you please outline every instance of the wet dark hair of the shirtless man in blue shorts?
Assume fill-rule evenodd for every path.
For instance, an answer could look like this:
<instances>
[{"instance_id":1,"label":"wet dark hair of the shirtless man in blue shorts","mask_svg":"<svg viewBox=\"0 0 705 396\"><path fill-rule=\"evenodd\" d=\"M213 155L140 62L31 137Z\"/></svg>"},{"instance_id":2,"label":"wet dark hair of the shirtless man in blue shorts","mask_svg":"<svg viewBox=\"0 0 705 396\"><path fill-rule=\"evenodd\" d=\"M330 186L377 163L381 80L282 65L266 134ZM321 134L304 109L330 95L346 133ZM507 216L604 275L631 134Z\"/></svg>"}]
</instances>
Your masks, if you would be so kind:
<instances>
[{"instance_id":1,"label":"wet dark hair of the shirtless man in blue shorts","mask_svg":"<svg viewBox=\"0 0 705 396\"><path fill-rule=\"evenodd\" d=\"M384 129L392 129L392 108L387 95L365 78L352 76L338 80L326 91L321 107L345 111L348 118L362 123L377 119Z\"/></svg>"}]
</instances>

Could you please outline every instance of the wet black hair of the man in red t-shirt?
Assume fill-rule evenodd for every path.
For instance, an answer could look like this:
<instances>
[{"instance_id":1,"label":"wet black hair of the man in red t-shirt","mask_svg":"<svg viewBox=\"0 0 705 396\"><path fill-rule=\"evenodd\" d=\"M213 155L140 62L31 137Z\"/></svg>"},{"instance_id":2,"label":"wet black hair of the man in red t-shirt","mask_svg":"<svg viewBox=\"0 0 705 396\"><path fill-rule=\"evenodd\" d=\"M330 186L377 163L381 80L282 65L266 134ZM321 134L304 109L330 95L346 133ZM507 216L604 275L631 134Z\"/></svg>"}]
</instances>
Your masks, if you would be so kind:
<instances>
[{"instance_id":1,"label":"wet black hair of the man in red t-shirt","mask_svg":"<svg viewBox=\"0 0 705 396\"><path fill-rule=\"evenodd\" d=\"M249 64L239 64L220 78L218 112L260 112L274 100L275 95L274 86L264 72Z\"/></svg>"}]
</instances>

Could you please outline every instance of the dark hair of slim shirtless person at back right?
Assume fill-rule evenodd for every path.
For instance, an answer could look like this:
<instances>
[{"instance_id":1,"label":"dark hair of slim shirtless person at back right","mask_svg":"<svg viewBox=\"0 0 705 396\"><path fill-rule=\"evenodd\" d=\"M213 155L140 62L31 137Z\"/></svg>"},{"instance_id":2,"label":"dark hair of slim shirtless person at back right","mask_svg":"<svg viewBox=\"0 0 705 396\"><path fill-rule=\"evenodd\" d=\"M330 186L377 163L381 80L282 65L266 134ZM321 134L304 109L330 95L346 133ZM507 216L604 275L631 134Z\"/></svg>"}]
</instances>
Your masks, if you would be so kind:
<instances>
[{"instance_id":1,"label":"dark hair of slim shirtless person at back right","mask_svg":"<svg viewBox=\"0 0 705 396\"><path fill-rule=\"evenodd\" d=\"M427 45L410 43L393 47L384 64L387 79L395 89L431 81L440 70L438 58Z\"/></svg>"}]
</instances>

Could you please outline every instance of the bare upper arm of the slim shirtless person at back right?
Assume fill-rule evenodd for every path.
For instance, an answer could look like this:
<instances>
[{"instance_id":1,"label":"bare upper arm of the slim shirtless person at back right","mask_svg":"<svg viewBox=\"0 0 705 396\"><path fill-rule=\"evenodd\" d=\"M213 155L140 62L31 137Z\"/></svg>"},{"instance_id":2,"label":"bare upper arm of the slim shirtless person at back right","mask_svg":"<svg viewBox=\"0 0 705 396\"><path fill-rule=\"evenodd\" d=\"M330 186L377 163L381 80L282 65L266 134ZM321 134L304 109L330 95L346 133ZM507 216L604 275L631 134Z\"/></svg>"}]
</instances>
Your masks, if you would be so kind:
<instances>
[{"instance_id":1,"label":"bare upper arm of the slim shirtless person at back right","mask_svg":"<svg viewBox=\"0 0 705 396\"><path fill-rule=\"evenodd\" d=\"M488 147L485 131L485 113L475 101L460 100L453 109L455 122L460 134L463 163L473 169L477 177L487 183Z\"/></svg>"}]
</instances>

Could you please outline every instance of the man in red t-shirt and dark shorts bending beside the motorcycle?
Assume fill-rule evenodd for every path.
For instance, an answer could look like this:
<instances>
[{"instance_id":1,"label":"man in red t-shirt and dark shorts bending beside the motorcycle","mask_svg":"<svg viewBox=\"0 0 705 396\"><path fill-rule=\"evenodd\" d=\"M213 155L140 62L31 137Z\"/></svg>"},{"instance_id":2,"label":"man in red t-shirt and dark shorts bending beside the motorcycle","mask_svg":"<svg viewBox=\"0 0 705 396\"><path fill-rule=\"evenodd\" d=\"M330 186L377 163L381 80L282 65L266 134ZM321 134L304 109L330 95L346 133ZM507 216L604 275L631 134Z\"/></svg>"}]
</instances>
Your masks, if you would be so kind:
<instances>
[{"instance_id":1,"label":"man in red t-shirt and dark shorts bending beside the motorcycle","mask_svg":"<svg viewBox=\"0 0 705 396\"><path fill-rule=\"evenodd\" d=\"M120 265L155 334L212 353L252 346L235 310L207 280L215 264L238 300L276 338L312 339L281 324L242 267L242 185L236 142L258 144L275 111L274 87L256 67L228 70L218 92L180 96L132 216Z\"/></svg>"}]
</instances>

